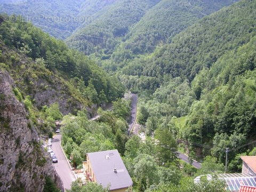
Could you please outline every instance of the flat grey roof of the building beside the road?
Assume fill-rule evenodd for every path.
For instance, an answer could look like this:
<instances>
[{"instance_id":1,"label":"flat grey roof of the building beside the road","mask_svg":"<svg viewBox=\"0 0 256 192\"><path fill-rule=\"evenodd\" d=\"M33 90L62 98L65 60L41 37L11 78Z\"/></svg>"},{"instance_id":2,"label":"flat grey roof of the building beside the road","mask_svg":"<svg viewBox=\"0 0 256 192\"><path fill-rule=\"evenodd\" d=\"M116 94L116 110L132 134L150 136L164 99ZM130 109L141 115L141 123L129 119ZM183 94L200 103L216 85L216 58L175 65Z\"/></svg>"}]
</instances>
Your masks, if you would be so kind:
<instances>
[{"instance_id":1,"label":"flat grey roof of the building beside the road","mask_svg":"<svg viewBox=\"0 0 256 192\"><path fill-rule=\"evenodd\" d=\"M88 153L87 156L97 183L104 188L114 190L132 186L132 179L116 149ZM114 172L114 168L117 173Z\"/></svg>"}]
</instances>

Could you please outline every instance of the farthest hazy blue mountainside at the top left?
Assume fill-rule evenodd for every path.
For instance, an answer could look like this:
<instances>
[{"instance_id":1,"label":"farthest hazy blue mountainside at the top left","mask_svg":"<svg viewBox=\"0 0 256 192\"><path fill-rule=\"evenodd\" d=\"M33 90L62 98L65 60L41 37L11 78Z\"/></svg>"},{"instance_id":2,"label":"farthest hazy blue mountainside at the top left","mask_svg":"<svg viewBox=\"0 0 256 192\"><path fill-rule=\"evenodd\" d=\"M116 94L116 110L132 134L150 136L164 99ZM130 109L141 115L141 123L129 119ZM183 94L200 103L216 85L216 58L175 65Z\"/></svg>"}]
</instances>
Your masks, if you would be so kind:
<instances>
[{"instance_id":1,"label":"farthest hazy blue mountainside at the top left","mask_svg":"<svg viewBox=\"0 0 256 192\"><path fill-rule=\"evenodd\" d=\"M116 0L103 1L3 1L0 13L22 15L50 35L65 39L81 25L92 22L94 14Z\"/></svg>"}]
</instances>

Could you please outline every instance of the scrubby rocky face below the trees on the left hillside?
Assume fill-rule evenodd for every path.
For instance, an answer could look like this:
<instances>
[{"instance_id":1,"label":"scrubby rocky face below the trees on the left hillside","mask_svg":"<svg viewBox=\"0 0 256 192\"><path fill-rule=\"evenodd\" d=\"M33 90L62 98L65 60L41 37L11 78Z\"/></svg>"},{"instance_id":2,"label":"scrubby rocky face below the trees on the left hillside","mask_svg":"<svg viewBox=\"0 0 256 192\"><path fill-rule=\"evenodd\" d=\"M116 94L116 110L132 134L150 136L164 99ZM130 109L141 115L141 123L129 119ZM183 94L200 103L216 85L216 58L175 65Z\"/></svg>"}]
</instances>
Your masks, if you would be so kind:
<instances>
[{"instance_id":1,"label":"scrubby rocky face below the trees on the left hillside","mask_svg":"<svg viewBox=\"0 0 256 192\"><path fill-rule=\"evenodd\" d=\"M0 40L0 64L1 62L11 66L8 71L15 86L24 95L30 95L31 100L34 100L34 106L38 109L58 102L61 113L67 115L76 114L77 110L89 104L66 81L67 79L60 77L57 72L53 73L36 65L34 61L19 54L17 50L6 47Z\"/></svg>"}]
</instances>

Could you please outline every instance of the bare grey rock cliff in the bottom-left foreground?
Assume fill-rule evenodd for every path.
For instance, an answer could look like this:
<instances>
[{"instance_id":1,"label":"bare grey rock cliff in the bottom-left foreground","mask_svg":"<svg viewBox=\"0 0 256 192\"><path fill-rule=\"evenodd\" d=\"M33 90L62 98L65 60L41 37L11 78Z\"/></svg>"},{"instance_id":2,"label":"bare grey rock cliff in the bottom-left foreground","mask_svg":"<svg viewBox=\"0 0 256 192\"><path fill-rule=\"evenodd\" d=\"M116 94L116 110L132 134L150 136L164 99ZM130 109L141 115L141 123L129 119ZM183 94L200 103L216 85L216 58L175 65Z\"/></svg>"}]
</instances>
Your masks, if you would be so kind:
<instances>
[{"instance_id":1,"label":"bare grey rock cliff in the bottom-left foreground","mask_svg":"<svg viewBox=\"0 0 256 192\"><path fill-rule=\"evenodd\" d=\"M0 191L43 191L46 175L63 190L13 87L10 75L0 70Z\"/></svg>"}]
</instances>

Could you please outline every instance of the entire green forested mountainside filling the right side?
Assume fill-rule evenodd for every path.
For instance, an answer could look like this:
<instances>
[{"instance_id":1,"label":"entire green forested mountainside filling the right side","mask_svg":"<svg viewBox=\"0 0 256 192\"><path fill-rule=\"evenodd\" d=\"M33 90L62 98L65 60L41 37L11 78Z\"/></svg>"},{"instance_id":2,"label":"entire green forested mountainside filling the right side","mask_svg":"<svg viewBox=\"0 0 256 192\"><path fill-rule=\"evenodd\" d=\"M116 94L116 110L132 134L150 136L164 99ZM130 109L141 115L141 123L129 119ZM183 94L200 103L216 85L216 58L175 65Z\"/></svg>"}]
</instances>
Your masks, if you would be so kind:
<instances>
[{"instance_id":1,"label":"entire green forested mountainside filling the right side","mask_svg":"<svg viewBox=\"0 0 256 192\"><path fill-rule=\"evenodd\" d=\"M255 138L255 7L241 1L213 13L125 69L136 71L123 76L125 84L146 90L138 120L148 134L167 126L177 139L211 148L201 153L222 163L223 148ZM242 151L230 153L230 171L239 170Z\"/></svg>"}]
</instances>

